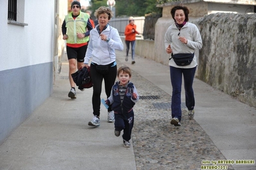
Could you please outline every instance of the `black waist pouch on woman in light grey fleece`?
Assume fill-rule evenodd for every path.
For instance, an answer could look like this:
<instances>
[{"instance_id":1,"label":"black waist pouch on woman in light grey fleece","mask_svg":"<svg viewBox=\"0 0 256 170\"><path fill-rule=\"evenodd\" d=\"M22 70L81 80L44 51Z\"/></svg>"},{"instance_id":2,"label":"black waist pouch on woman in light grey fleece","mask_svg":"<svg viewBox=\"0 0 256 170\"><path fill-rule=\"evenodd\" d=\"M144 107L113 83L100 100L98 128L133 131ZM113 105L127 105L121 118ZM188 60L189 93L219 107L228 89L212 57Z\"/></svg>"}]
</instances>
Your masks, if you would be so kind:
<instances>
[{"instance_id":1,"label":"black waist pouch on woman in light grey fleece","mask_svg":"<svg viewBox=\"0 0 256 170\"><path fill-rule=\"evenodd\" d=\"M193 58L194 58L194 53L180 53L180 54L171 54L171 58L175 61L176 65L178 66L187 66L190 65ZM170 58L170 59L171 59Z\"/></svg>"}]
</instances>

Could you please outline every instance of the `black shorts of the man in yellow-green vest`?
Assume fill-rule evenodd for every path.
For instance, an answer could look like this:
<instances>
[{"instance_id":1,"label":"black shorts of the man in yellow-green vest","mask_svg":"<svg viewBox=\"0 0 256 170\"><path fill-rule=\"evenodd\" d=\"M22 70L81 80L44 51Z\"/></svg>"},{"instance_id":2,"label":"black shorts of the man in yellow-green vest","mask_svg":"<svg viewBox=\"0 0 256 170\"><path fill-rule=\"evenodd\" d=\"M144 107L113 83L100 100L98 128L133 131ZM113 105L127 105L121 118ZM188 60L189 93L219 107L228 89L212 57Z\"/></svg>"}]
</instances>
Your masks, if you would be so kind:
<instances>
[{"instance_id":1,"label":"black shorts of the man in yellow-green vest","mask_svg":"<svg viewBox=\"0 0 256 170\"><path fill-rule=\"evenodd\" d=\"M77 59L78 62L83 63L85 58L85 53L88 45L84 45L82 47L73 48L67 46L67 58L68 59Z\"/></svg>"}]
</instances>

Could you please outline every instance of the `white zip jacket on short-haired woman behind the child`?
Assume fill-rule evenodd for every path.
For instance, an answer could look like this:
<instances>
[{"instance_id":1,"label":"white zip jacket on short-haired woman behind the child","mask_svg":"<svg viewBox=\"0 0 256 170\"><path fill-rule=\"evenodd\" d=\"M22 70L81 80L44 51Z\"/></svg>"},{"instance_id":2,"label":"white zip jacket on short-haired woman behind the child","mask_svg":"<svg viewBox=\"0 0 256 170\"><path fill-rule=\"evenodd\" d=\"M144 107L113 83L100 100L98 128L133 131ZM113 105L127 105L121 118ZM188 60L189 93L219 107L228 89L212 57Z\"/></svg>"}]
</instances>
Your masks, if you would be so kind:
<instances>
[{"instance_id":1,"label":"white zip jacket on short-haired woman behind the child","mask_svg":"<svg viewBox=\"0 0 256 170\"><path fill-rule=\"evenodd\" d=\"M115 49L124 49L119 33L114 27L108 25L101 34L107 35L107 37L110 38L109 42L101 40L96 27L92 29L90 31L89 45L83 63L88 64L90 58L92 58L92 62L97 65L108 65L115 61Z\"/></svg>"}]
</instances>

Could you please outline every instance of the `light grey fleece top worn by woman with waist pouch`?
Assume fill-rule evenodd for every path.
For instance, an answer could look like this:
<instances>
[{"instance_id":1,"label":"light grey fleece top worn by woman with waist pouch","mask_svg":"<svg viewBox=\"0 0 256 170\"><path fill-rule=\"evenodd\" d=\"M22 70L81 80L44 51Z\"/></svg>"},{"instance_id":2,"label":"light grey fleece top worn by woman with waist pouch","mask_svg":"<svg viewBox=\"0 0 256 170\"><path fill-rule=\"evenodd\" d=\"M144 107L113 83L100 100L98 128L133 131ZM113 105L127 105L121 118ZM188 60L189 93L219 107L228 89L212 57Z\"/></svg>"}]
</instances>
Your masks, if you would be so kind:
<instances>
[{"instance_id":1,"label":"light grey fleece top worn by woman with waist pouch","mask_svg":"<svg viewBox=\"0 0 256 170\"><path fill-rule=\"evenodd\" d=\"M187 44L180 42L179 36L187 38ZM167 48L171 45L173 54L180 53L194 53L196 49L201 49L203 46L201 35L198 27L191 22L187 22L180 31L176 27L175 23L168 27L166 35L164 36L164 45ZM190 65L178 66L172 59L169 60L169 66L174 66L176 68L194 68L198 63L196 61L196 55Z\"/></svg>"}]
</instances>

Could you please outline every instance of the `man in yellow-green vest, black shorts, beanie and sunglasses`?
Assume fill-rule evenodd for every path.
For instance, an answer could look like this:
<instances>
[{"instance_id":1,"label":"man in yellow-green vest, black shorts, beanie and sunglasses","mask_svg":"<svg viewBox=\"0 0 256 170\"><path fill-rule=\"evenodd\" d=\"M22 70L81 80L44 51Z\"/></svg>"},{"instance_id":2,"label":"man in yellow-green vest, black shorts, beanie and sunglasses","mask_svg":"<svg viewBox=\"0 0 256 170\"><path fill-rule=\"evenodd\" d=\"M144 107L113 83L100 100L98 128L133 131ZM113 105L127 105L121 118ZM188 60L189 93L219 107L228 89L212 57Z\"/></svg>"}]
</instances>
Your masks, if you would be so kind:
<instances>
[{"instance_id":1,"label":"man in yellow-green vest, black shorts, beanie and sunglasses","mask_svg":"<svg viewBox=\"0 0 256 170\"><path fill-rule=\"evenodd\" d=\"M76 84L71 76L77 69L83 65L83 58L89 42L90 30L93 29L90 24L90 16L81 12L81 4L78 1L71 3L72 12L65 16L62 24L63 40L67 43L67 58L69 59L69 82L71 91L68 97L76 98ZM81 89L83 91L83 89Z\"/></svg>"}]
</instances>

